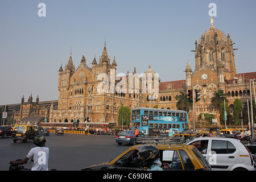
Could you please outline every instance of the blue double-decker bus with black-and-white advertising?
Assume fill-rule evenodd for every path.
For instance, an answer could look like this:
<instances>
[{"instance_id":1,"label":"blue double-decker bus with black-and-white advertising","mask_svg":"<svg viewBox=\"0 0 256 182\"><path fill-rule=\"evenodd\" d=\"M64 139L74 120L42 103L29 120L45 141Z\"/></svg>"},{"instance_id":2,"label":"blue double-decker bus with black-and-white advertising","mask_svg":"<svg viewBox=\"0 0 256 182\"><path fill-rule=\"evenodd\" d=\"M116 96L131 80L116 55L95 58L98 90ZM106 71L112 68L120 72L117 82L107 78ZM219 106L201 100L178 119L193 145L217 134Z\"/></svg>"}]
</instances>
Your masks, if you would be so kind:
<instances>
[{"instance_id":1,"label":"blue double-decker bus with black-and-white advertising","mask_svg":"<svg viewBox=\"0 0 256 182\"><path fill-rule=\"evenodd\" d=\"M188 129L188 113L184 110L135 107L131 111L131 129L148 137L171 137Z\"/></svg>"}]
</instances>

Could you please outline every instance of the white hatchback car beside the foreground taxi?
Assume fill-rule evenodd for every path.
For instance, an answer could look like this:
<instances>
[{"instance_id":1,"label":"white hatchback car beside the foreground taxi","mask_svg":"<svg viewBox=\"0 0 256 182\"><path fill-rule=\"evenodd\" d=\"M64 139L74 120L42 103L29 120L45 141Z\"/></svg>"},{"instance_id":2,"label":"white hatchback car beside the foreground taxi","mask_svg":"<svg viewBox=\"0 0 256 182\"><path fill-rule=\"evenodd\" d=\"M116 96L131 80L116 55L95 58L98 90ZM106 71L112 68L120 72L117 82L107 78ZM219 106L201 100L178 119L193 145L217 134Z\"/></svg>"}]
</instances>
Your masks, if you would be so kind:
<instances>
[{"instance_id":1,"label":"white hatchback car beside the foreground taxi","mask_svg":"<svg viewBox=\"0 0 256 182\"><path fill-rule=\"evenodd\" d=\"M196 146L208 160L212 170L256 170L251 152L238 139L200 137L185 144Z\"/></svg>"}]
</instances>

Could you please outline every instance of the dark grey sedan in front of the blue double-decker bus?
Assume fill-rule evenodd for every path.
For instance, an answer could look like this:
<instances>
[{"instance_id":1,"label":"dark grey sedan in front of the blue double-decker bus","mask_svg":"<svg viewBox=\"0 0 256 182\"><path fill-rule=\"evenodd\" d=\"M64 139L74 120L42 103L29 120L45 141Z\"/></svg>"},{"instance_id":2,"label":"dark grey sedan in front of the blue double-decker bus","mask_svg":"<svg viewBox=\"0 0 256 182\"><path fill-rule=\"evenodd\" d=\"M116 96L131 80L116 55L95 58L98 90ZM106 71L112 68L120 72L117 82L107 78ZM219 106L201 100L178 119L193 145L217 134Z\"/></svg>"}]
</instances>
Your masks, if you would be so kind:
<instances>
[{"instance_id":1,"label":"dark grey sedan in front of the blue double-decker bus","mask_svg":"<svg viewBox=\"0 0 256 182\"><path fill-rule=\"evenodd\" d=\"M128 143L128 144L136 144L135 142L135 131L133 130L126 130L122 131L115 137L115 142L117 142L119 145L122 143ZM139 137L142 137L144 134L139 131Z\"/></svg>"}]
</instances>

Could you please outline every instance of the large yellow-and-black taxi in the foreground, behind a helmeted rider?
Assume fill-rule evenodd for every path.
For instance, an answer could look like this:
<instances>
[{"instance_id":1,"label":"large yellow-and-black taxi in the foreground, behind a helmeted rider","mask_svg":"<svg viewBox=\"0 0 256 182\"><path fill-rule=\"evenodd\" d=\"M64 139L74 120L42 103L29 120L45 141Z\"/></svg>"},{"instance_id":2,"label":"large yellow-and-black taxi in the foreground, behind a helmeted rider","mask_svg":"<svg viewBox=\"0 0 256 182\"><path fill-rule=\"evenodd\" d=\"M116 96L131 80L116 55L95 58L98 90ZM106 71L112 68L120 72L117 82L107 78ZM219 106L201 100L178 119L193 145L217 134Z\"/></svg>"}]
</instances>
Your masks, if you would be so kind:
<instances>
[{"instance_id":1,"label":"large yellow-and-black taxi in the foreground, behind a helmeted rider","mask_svg":"<svg viewBox=\"0 0 256 182\"><path fill-rule=\"evenodd\" d=\"M130 147L111 162L105 162L82 168L82 171L146 171L148 168L138 166L136 162L140 158L139 150L148 144L138 144ZM209 171L209 163L200 154L195 146L184 144L159 143L152 144L158 148L160 153L160 167L163 171Z\"/></svg>"}]
</instances>

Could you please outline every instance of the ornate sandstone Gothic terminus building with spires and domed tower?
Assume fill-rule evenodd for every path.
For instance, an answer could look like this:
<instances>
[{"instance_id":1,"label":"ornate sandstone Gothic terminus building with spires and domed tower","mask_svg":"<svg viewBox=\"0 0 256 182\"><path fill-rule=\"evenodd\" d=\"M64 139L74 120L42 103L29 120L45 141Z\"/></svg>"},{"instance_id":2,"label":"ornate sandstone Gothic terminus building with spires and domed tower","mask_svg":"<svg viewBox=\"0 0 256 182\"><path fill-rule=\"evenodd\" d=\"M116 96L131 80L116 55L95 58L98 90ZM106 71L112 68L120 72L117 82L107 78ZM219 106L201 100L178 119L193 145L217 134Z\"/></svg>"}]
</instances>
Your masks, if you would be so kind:
<instances>
[{"instance_id":1,"label":"ornate sandstone Gothic terminus building with spires and domed tower","mask_svg":"<svg viewBox=\"0 0 256 182\"><path fill-rule=\"evenodd\" d=\"M195 103L196 118L200 113L209 113L215 115L220 121L217 107L212 105L210 98L214 91L218 89L228 93L228 104L233 110L233 102L240 98L243 102L250 99L249 80L256 78L256 72L238 73L234 60L233 41L229 35L218 30L211 23L210 28L202 35L199 42L195 42L195 71L192 71L189 62L185 68L185 80L159 82L158 97L142 92L142 80L139 79L139 92L114 92L98 93L99 85L102 82L98 75L105 73L110 76L110 71L114 75L114 84L122 82L122 77L115 77L117 63L115 57L110 60L104 46L102 55L98 62L94 56L92 67L86 64L85 56L82 56L80 65L75 69L72 55L63 69L59 69L59 101L57 109L53 106L49 109L49 122L115 122L118 120L118 110L123 106L133 109L137 106L154 107L164 109L176 109L175 96L180 92L187 93L187 90L200 90L201 100ZM149 68L144 72L146 75L155 72ZM128 75L136 74L127 72ZM234 80L238 77L238 80ZM148 80L147 80L148 81ZM127 85L129 80L127 79ZM148 84L148 83L147 83ZM152 83L154 85L154 83ZM128 88L128 86L127 86ZM133 90L135 91L135 90ZM138 91L138 90L137 90ZM189 120L192 120L192 112L189 113Z\"/></svg>"}]
</instances>

